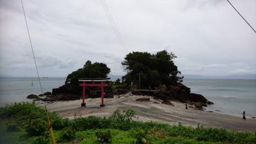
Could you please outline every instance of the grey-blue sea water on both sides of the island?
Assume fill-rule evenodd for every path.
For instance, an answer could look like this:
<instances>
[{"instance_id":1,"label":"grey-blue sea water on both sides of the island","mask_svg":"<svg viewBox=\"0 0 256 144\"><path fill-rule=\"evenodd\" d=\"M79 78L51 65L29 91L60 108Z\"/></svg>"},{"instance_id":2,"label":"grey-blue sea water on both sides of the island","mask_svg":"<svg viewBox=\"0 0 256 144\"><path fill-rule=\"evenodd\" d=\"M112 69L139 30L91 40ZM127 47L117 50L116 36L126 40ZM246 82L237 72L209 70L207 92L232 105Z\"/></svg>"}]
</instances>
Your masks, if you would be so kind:
<instances>
[{"instance_id":1,"label":"grey-blue sea water on both sides of the island","mask_svg":"<svg viewBox=\"0 0 256 144\"><path fill-rule=\"evenodd\" d=\"M32 85L33 83L33 85ZM65 83L65 78L42 78L43 92L52 92ZM256 79L184 79L191 92L204 95L214 104L206 107L216 113L247 117L256 116ZM35 77L1 77L0 106L14 102L31 102L29 94L41 93Z\"/></svg>"}]
</instances>

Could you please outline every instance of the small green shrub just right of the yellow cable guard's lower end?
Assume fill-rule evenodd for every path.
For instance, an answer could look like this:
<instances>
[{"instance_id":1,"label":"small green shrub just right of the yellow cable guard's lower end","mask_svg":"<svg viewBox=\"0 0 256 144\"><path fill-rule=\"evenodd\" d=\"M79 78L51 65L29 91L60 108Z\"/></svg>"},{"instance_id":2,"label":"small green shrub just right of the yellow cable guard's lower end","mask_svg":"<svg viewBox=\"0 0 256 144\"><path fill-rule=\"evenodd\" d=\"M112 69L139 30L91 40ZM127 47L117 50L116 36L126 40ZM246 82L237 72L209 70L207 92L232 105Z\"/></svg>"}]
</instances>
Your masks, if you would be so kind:
<instances>
[{"instance_id":1,"label":"small green shrub just right of the yellow cable guard's lower end","mask_svg":"<svg viewBox=\"0 0 256 144\"><path fill-rule=\"evenodd\" d=\"M65 127L63 131L60 132L59 142L70 141L75 138L75 132L72 127Z\"/></svg>"}]
</instances>

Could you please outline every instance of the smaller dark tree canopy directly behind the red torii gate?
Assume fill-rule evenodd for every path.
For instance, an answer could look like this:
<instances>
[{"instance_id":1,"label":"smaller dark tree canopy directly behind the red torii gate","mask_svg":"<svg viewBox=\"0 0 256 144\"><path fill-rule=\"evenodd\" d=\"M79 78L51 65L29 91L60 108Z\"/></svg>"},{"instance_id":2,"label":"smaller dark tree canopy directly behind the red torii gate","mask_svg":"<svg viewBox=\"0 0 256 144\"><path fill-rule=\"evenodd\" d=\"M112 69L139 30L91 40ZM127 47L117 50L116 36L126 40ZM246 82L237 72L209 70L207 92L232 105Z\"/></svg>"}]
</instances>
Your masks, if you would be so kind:
<instances>
[{"instance_id":1,"label":"smaller dark tree canopy directly behind the red torii gate","mask_svg":"<svg viewBox=\"0 0 256 144\"><path fill-rule=\"evenodd\" d=\"M92 63L91 61L86 61L83 68L68 74L66 79L66 84L70 83L72 85L78 86L79 78L106 78L110 72L110 68L105 63Z\"/></svg>"}]
</instances>

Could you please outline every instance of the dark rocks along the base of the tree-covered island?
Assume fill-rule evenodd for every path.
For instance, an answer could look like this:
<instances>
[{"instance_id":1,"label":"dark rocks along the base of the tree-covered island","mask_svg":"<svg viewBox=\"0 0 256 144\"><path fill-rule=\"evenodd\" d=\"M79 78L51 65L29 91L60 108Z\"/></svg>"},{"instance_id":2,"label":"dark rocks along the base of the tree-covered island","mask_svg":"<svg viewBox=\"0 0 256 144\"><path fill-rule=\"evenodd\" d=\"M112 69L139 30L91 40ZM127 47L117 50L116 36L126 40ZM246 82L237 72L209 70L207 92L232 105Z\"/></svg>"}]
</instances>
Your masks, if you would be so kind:
<instances>
[{"instance_id":1,"label":"dark rocks along the base of the tree-covered island","mask_svg":"<svg viewBox=\"0 0 256 144\"><path fill-rule=\"evenodd\" d=\"M207 100L203 95L191 93L190 88L185 86L182 83L177 83L175 86L159 86L156 90L127 90L127 89L117 89L115 92L112 92L111 89L106 88L105 98L113 98L113 95L124 95L125 93L132 93L132 95L147 95L154 97L154 99L163 100L164 104L172 104L170 100L175 100L178 102L183 102L187 104L193 104L196 108L202 109L202 106L207 106L207 104L213 104ZM97 98L100 97L100 90L88 89L86 90L86 98ZM59 100L77 100L81 99L81 90L72 88L68 84L64 84L59 88L53 88L52 92L46 92L43 95L28 95L28 99L36 99L43 101L59 101Z\"/></svg>"}]
</instances>

